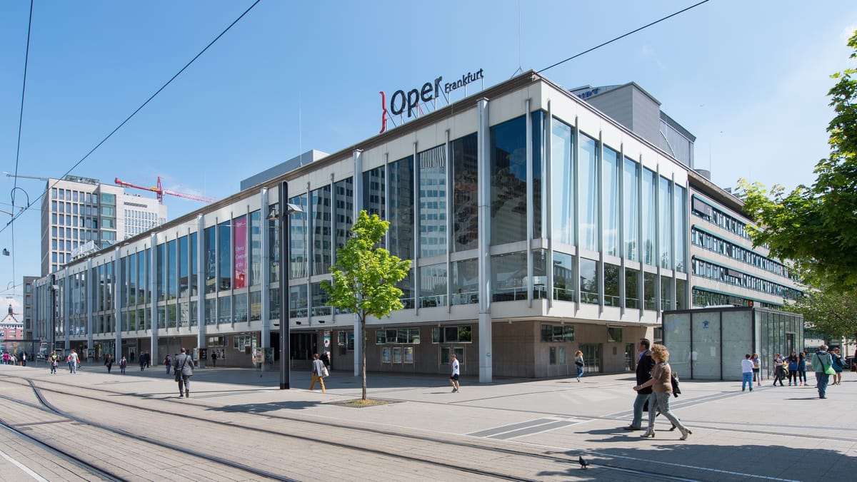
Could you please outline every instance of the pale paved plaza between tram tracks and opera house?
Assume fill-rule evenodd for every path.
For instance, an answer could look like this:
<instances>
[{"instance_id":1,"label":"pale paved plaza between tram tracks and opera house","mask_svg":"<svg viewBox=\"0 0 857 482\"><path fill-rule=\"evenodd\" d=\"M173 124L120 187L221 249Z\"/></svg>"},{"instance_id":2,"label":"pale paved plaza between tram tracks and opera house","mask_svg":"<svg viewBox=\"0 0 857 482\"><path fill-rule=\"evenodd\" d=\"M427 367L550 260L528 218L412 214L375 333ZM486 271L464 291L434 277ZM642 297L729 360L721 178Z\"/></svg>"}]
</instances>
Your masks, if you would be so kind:
<instances>
[{"instance_id":1,"label":"pale paved plaza between tram tracks and opera house","mask_svg":"<svg viewBox=\"0 0 857 482\"><path fill-rule=\"evenodd\" d=\"M103 366L87 364L71 375L61 366L54 376L44 365L0 366L0 374L13 373L149 398L172 397L175 391L162 366L145 372L129 366L125 375L117 369L108 375ZM808 375L809 386L773 387L769 381L744 393L740 382L683 381L682 395L672 399L671 407L692 430L684 442L660 418L653 439L622 430L631 419L631 373L588 375L580 383L572 377L478 384L465 377L458 393L451 392L442 375L369 373L369 397L399 403L349 408L335 402L360 397L361 379L353 372L334 370L322 394L308 390L309 372L292 371L291 390L279 390L279 372L217 367L195 372L193 396L186 403L299 408L304 417L503 440L575 460L583 455L591 467L575 472L582 479L622 479L615 467L705 480L851 479L857 473L857 415L852 410L857 375L845 373L825 400L818 399L813 374ZM328 474L332 479L337 475Z\"/></svg>"}]
</instances>

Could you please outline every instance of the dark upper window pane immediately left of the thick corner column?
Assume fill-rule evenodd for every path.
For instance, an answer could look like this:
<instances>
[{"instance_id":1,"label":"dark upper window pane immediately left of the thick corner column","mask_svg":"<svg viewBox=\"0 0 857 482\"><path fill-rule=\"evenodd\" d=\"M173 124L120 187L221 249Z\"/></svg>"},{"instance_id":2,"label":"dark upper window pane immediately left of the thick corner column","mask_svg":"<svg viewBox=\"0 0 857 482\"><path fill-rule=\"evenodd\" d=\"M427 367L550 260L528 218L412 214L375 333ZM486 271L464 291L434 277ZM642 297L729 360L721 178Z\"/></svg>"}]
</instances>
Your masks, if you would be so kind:
<instances>
[{"instance_id":1,"label":"dark upper window pane immediately left of the thick corner column","mask_svg":"<svg viewBox=\"0 0 857 482\"><path fill-rule=\"evenodd\" d=\"M452 251L476 249L479 239L476 133L452 141Z\"/></svg>"}]
</instances>

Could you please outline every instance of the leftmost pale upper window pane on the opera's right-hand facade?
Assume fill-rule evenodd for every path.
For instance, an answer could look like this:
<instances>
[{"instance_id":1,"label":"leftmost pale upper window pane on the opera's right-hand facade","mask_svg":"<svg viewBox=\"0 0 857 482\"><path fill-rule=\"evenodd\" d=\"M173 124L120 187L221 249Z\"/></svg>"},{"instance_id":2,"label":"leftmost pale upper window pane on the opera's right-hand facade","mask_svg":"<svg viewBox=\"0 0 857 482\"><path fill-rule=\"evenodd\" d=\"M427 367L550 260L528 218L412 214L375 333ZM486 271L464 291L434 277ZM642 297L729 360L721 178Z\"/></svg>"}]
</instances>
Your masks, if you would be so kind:
<instances>
[{"instance_id":1,"label":"leftmost pale upper window pane on the opera's right-hand facade","mask_svg":"<svg viewBox=\"0 0 857 482\"><path fill-rule=\"evenodd\" d=\"M551 225L554 242L574 244L574 137L572 127L554 119L551 134Z\"/></svg>"}]
</instances>

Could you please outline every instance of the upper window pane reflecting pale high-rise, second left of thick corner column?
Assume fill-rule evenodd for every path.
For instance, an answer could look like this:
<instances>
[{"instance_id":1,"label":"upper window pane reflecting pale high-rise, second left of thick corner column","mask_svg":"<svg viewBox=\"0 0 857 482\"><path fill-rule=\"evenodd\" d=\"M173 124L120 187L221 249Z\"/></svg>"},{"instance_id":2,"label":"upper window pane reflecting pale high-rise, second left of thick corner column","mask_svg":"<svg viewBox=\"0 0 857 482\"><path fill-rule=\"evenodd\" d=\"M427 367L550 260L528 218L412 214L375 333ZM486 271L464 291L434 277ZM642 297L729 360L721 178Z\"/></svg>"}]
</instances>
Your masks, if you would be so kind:
<instances>
[{"instance_id":1,"label":"upper window pane reflecting pale high-rise, second left of thick corner column","mask_svg":"<svg viewBox=\"0 0 857 482\"><path fill-rule=\"evenodd\" d=\"M446 146L420 152L420 256L446 254Z\"/></svg>"}]
</instances>

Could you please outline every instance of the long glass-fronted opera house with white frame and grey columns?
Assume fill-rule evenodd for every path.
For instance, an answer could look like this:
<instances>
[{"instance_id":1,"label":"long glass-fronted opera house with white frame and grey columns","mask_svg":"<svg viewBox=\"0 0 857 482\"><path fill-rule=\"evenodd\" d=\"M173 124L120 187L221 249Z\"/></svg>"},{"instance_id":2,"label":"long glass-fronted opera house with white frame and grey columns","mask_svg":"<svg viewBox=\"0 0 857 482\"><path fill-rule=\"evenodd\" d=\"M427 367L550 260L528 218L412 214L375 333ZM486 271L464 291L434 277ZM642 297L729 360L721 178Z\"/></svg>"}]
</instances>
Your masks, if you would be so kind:
<instances>
[{"instance_id":1,"label":"long glass-fronted opera house with white frame and grey columns","mask_svg":"<svg viewBox=\"0 0 857 482\"><path fill-rule=\"evenodd\" d=\"M638 338L656 338L661 313L690 307L698 290L755 289L770 304L794 295L782 265L731 237L740 204L690 169L692 135L641 92L603 87L584 101L527 73L341 152L292 159L57 271L57 316L72 327L58 339L121 339L125 354L252 333L276 347L288 309L292 366L309 366L327 334L334 366L353 369L354 315L326 306L321 282L360 210L389 221L383 247L412 261L398 284L405 309L369 321L369 370L446 372L456 354L482 381L559 376L575 372L580 349L587 370L621 372ZM289 215L289 259L280 181L303 209ZM740 259L698 255L697 242ZM50 318L49 283L35 282L37 326ZM228 364L250 362L225 346Z\"/></svg>"}]
</instances>

